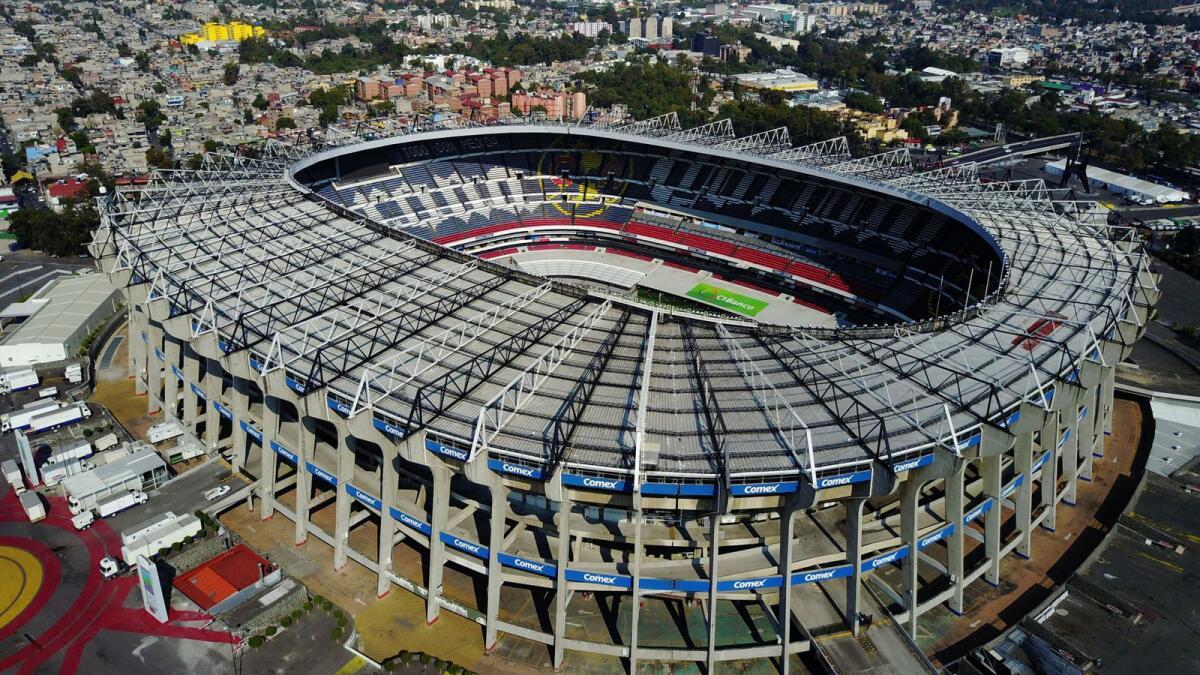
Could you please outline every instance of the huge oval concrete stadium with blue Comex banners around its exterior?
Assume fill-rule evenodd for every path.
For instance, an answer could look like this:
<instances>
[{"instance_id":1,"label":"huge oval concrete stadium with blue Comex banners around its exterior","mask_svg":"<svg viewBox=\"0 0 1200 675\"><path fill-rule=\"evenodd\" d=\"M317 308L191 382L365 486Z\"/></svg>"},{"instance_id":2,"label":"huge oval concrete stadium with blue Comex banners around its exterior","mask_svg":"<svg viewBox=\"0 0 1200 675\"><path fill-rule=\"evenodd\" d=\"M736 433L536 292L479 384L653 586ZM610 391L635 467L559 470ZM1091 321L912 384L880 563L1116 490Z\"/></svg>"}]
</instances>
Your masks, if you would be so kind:
<instances>
[{"instance_id":1,"label":"huge oval concrete stadium with blue Comex banners around its exterior","mask_svg":"<svg viewBox=\"0 0 1200 675\"><path fill-rule=\"evenodd\" d=\"M1103 456L1150 258L977 168L450 120L160 172L91 252L151 410L379 596L556 668L786 671L886 568L910 634L960 613Z\"/></svg>"}]
</instances>

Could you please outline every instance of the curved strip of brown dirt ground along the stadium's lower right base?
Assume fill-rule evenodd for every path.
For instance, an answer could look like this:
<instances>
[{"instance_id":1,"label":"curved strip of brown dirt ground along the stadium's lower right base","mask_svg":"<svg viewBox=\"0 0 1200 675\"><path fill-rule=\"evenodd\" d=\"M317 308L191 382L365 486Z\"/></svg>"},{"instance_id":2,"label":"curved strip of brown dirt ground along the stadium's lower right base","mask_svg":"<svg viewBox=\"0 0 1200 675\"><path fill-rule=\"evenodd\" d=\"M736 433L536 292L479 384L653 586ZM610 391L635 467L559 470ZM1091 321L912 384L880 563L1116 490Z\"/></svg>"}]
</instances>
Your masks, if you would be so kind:
<instances>
[{"instance_id":1,"label":"curved strip of brown dirt ground along the stadium's lower right base","mask_svg":"<svg viewBox=\"0 0 1200 675\"><path fill-rule=\"evenodd\" d=\"M1054 532L1033 530L1032 557L1007 556L1001 562L998 589L983 581L972 584L961 617L944 607L922 616L917 641L935 664L949 663L1019 622L1096 549L1136 488L1134 466L1141 429L1138 404L1116 400L1112 435L1105 440L1104 458L1094 460L1093 479L1079 482L1074 507L1058 504ZM1037 500L1034 496L1034 503Z\"/></svg>"}]
</instances>

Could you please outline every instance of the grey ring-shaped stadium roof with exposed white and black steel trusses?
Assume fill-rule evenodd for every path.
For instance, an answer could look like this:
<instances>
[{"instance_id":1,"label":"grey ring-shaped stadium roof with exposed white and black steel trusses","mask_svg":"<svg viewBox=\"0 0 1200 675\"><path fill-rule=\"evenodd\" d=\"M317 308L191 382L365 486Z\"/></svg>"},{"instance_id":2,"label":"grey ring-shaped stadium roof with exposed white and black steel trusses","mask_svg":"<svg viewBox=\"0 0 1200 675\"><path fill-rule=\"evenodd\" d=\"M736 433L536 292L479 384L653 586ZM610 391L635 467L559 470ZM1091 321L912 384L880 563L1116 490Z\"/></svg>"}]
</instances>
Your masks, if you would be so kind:
<instances>
[{"instance_id":1,"label":"grey ring-shaped stadium roof with exposed white and black steel trusses","mask_svg":"<svg viewBox=\"0 0 1200 675\"><path fill-rule=\"evenodd\" d=\"M725 149L736 145L731 133L727 124L679 130L655 119L428 129L314 154L280 148L275 160L162 173L139 201L119 195L97 250L106 269L127 270L151 300L191 315L196 336L212 335L254 370L282 371L301 395L372 416L385 432L426 429L472 459L488 453L635 482L815 477L934 448L958 453L1016 406L1049 407L1057 380L1103 359L1100 340L1132 304L1146 264L1135 243L1110 231L1105 213L1057 202L1040 181L980 184L970 166L923 172L905 151L850 160L844 143ZM745 160L902 199L994 241L1004 281L965 310L889 327L782 330L671 317L413 238L293 178L370 149L518 135ZM428 163L402 162L397 175L428 175ZM424 199L466 190L449 175L421 189L401 180L398 190L416 196L406 207L414 221L475 208Z\"/></svg>"}]
</instances>

